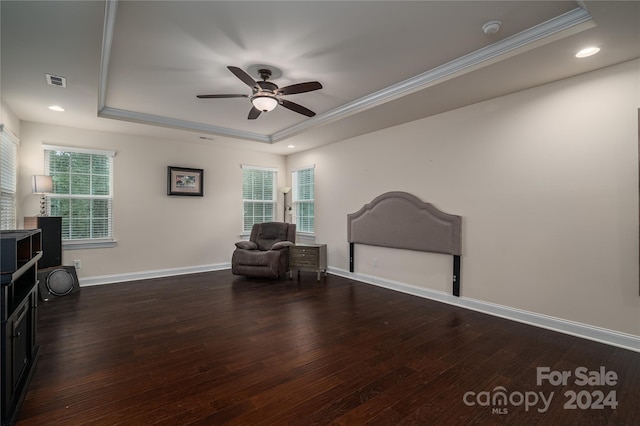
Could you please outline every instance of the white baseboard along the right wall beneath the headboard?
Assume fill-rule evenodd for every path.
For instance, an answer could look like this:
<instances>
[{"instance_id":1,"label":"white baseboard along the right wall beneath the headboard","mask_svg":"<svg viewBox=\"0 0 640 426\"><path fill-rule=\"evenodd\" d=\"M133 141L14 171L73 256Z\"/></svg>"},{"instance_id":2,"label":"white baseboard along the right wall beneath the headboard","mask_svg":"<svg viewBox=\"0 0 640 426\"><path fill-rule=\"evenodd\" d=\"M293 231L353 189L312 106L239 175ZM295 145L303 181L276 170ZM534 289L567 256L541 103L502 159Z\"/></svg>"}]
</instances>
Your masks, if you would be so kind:
<instances>
[{"instance_id":1,"label":"white baseboard along the right wall beneath the headboard","mask_svg":"<svg viewBox=\"0 0 640 426\"><path fill-rule=\"evenodd\" d=\"M348 272L344 269L329 268L328 272L344 278L350 278L355 281L400 291L402 293L407 293L414 296L424 297L425 299L448 303L450 305L471 309L496 317L518 321L536 327L545 328L547 330L553 330L560 333L569 334L571 336L581 337L583 339L593 340L607 345L640 352L640 336L636 336L633 334L621 333L618 331L569 321L562 318L537 314L535 312L524 311L521 309L510 308L508 306L497 305L495 303L484 302L482 300L471 299L467 297L456 297L452 294L443 293L441 291L416 287L411 284L387 280L370 275Z\"/></svg>"}]
</instances>

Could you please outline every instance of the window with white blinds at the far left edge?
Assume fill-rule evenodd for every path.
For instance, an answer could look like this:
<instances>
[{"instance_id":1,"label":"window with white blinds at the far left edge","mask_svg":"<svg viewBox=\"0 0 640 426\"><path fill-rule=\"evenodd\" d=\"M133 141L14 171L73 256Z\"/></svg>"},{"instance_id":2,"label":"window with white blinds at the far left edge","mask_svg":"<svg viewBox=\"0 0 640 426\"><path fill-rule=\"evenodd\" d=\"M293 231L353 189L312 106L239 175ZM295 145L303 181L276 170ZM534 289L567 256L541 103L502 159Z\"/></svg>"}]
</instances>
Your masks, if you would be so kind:
<instances>
[{"instance_id":1,"label":"window with white blinds at the far left edge","mask_svg":"<svg viewBox=\"0 0 640 426\"><path fill-rule=\"evenodd\" d=\"M18 140L0 125L0 229L16 229Z\"/></svg>"}]
</instances>

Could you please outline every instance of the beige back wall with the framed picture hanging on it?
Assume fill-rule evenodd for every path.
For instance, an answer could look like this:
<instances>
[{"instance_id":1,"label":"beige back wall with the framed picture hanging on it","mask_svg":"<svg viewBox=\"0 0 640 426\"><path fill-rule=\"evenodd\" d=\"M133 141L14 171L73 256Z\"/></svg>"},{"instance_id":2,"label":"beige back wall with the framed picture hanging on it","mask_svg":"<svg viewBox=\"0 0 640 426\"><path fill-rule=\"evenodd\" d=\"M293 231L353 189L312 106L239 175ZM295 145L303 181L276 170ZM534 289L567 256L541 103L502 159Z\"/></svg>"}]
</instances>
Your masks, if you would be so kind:
<instances>
[{"instance_id":1,"label":"beige back wall with the framed picture hanging on it","mask_svg":"<svg viewBox=\"0 0 640 426\"><path fill-rule=\"evenodd\" d=\"M81 281L83 277L229 266L234 242L242 231L240 165L278 168L280 186L286 178L285 158L280 155L220 148L208 141L150 139L23 122L19 225L23 216L38 213L39 199L30 192L30 176L44 172L43 143L116 151L113 208L117 247L65 250L64 264L82 261L78 271ZM167 166L204 169L204 197L166 195Z\"/></svg>"}]
</instances>

